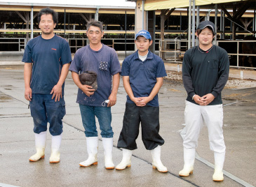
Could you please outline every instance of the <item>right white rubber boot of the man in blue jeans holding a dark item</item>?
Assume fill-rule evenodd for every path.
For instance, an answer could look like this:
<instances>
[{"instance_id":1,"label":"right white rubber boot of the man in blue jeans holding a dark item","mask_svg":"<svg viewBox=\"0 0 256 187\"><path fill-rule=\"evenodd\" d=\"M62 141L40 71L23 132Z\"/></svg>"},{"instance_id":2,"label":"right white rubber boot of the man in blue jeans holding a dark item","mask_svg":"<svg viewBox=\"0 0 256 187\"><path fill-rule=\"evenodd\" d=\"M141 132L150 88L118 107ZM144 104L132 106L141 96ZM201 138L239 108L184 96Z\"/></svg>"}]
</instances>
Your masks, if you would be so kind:
<instances>
[{"instance_id":1,"label":"right white rubber boot of the man in blue jeans holding a dark item","mask_svg":"<svg viewBox=\"0 0 256 187\"><path fill-rule=\"evenodd\" d=\"M107 138L102 137L102 144L105 156L105 167L107 170L114 169L114 163L112 160L112 149L113 149L113 137Z\"/></svg>"}]
</instances>

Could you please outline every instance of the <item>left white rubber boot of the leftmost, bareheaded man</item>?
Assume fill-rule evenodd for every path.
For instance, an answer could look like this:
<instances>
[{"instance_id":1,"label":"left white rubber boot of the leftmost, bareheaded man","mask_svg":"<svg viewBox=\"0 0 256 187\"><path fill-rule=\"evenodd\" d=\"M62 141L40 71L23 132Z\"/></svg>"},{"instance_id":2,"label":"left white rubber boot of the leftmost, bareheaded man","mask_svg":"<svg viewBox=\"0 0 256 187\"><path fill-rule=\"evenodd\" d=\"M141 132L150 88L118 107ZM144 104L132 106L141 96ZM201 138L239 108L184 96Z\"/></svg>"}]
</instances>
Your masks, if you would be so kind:
<instances>
[{"instance_id":1,"label":"left white rubber boot of the leftmost, bareheaded man","mask_svg":"<svg viewBox=\"0 0 256 187\"><path fill-rule=\"evenodd\" d=\"M36 154L29 158L29 161L36 162L44 158L44 150L46 149L46 131L39 134L34 133L34 140L36 144Z\"/></svg>"}]
</instances>

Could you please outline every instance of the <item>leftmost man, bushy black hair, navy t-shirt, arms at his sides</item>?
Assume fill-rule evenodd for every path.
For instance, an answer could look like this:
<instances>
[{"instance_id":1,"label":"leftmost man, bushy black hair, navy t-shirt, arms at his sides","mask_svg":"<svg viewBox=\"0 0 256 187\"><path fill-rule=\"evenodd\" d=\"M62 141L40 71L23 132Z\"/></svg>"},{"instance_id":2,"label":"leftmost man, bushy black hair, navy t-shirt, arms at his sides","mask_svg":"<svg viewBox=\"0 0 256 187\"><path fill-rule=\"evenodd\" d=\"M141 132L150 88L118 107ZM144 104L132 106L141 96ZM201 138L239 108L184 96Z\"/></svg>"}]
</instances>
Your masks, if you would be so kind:
<instances>
[{"instance_id":1,"label":"leftmost man, bushy black hair, navy t-shirt, arms at his sides","mask_svg":"<svg viewBox=\"0 0 256 187\"><path fill-rule=\"evenodd\" d=\"M65 116L64 82L72 61L65 38L53 33L58 14L43 8L38 15L42 34L29 40L22 61L25 62L25 98L29 100L34 120L36 154L29 158L44 158L47 123L50 124L52 146L50 163L60 162L62 118Z\"/></svg>"}]
</instances>

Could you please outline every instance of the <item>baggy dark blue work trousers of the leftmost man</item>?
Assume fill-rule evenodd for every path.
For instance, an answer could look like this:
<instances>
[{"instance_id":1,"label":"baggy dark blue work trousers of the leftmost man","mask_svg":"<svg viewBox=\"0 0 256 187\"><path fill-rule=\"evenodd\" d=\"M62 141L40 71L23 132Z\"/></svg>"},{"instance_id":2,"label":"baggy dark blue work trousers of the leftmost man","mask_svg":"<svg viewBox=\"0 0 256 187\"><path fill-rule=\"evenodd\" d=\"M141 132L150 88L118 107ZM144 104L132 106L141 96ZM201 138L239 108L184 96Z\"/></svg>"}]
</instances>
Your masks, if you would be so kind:
<instances>
[{"instance_id":1,"label":"baggy dark blue work trousers of the leftmost man","mask_svg":"<svg viewBox=\"0 0 256 187\"><path fill-rule=\"evenodd\" d=\"M53 94L32 93L29 105L34 121L34 133L46 131L47 123L50 124L51 135L62 133L62 119L66 114L64 96L57 102L52 99L52 96Z\"/></svg>"}]
</instances>

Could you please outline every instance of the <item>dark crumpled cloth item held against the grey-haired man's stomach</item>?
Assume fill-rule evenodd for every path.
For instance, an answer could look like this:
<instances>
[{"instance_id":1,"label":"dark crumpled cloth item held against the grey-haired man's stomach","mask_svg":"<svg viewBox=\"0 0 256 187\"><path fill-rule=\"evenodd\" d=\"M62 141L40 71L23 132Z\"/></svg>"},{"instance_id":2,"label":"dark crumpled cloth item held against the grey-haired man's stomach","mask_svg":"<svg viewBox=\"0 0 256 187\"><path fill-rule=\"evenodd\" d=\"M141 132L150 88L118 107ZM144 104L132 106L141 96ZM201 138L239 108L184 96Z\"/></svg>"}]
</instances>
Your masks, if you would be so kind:
<instances>
[{"instance_id":1,"label":"dark crumpled cloth item held against the grey-haired man's stomach","mask_svg":"<svg viewBox=\"0 0 256 187\"><path fill-rule=\"evenodd\" d=\"M84 85L93 87L95 91L97 90L97 74L93 71L85 71L79 74L79 80Z\"/></svg>"}]
</instances>

